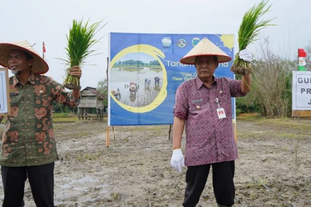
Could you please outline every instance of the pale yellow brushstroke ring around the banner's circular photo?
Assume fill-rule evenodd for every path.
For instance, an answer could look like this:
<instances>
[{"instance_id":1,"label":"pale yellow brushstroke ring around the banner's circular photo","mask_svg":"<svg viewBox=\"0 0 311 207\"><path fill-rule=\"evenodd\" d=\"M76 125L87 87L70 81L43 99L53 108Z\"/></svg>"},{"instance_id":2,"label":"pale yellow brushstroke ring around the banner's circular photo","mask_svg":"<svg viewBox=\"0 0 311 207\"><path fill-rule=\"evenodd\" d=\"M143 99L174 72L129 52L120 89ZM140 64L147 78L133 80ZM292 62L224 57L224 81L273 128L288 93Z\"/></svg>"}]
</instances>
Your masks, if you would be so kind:
<instances>
[{"instance_id":1,"label":"pale yellow brushstroke ring around the banner's circular photo","mask_svg":"<svg viewBox=\"0 0 311 207\"><path fill-rule=\"evenodd\" d=\"M162 83L161 90L159 91L159 94L157 95L157 97L155 98L155 100L152 103L150 103L146 106L142 106L142 107L133 107L133 106L129 106L129 105L126 105L126 104L119 102L115 98L115 96L111 93L111 91L110 91L110 96L117 104L119 104L122 108L124 108L127 111L134 112L134 113L145 113L145 112L152 111L156 107L158 107L165 100L165 98L167 96L166 69L165 69L165 66L162 63L161 59L159 58L159 57L161 57L164 59L165 58L164 53L162 51L160 51L159 49L157 49L153 46L150 46L150 45L144 45L144 44L133 45L133 46L130 46L130 47L127 47L127 48L121 50L120 52L118 52L118 54L116 54L116 56L110 62L110 69L112 69L114 64L116 63L116 61L119 60L124 55L129 54L129 53L137 53L137 52L149 54L159 62L160 66L162 68L162 71L163 71L163 83Z\"/></svg>"}]
</instances>

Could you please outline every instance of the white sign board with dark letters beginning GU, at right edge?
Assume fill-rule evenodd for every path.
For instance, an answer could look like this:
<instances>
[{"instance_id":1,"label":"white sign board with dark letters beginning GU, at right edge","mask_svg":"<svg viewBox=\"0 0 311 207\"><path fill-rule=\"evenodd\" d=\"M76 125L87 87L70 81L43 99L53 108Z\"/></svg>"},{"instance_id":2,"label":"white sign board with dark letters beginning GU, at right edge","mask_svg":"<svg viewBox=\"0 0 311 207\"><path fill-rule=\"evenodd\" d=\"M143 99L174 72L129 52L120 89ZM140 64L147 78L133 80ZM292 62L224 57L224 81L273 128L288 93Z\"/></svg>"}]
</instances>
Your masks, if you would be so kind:
<instances>
[{"instance_id":1,"label":"white sign board with dark letters beginning GU, at right edge","mask_svg":"<svg viewBox=\"0 0 311 207\"><path fill-rule=\"evenodd\" d=\"M311 71L293 71L292 110L311 110Z\"/></svg>"}]
</instances>

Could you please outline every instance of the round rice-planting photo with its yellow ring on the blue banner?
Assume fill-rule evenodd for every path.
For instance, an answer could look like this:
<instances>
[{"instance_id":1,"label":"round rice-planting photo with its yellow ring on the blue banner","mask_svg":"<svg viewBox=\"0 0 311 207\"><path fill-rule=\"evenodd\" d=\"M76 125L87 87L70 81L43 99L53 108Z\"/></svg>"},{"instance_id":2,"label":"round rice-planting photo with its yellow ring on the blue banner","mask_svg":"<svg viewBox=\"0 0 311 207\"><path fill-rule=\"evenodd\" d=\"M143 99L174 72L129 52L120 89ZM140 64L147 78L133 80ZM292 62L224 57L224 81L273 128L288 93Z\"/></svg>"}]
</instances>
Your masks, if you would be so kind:
<instances>
[{"instance_id":1,"label":"round rice-planting photo with its yellow ring on the blue banner","mask_svg":"<svg viewBox=\"0 0 311 207\"><path fill-rule=\"evenodd\" d=\"M160 58L164 53L150 45L134 45L111 61L110 96L122 108L144 113L166 98L167 75Z\"/></svg>"}]
</instances>

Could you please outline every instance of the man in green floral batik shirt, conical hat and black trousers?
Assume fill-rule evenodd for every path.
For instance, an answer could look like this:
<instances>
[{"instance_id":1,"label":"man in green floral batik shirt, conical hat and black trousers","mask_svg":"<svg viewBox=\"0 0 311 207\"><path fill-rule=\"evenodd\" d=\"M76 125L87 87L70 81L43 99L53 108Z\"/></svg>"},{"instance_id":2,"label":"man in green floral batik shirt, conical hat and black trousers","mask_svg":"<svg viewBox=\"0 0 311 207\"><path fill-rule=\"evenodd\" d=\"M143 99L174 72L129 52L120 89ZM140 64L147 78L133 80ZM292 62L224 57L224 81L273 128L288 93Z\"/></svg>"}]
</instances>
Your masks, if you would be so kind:
<instances>
[{"instance_id":1,"label":"man in green floral batik shirt, conical hat and black trousers","mask_svg":"<svg viewBox=\"0 0 311 207\"><path fill-rule=\"evenodd\" d=\"M6 117L0 149L4 188L3 207L24 206L28 178L36 206L54 207L54 161L57 159L53 133L53 102L76 106L80 89L67 92L44 74L48 64L27 41L0 43L0 65L11 69L10 115ZM80 79L74 66L70 74ZM0 117L0 122L3 117Z\"/></svg>"}]
</instances>

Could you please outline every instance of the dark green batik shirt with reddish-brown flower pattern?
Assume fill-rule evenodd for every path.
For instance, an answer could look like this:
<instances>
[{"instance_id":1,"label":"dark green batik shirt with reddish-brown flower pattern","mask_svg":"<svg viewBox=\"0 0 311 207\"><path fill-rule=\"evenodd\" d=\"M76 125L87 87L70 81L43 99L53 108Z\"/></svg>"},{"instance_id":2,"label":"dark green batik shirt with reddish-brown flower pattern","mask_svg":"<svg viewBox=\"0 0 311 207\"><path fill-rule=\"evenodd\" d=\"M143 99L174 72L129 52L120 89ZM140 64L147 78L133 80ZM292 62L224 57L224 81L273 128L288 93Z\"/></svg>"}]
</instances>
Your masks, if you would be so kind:
<instances>
[{"instance_id":1,"label":"dark green batik shirt with reddish-brown flower pattern","mask_svg":"<svg viewBox=\"0 0 311 207\"><path fill-rule=\"evenodd\" d=\"M0 165L33 166L57 159L53 133L53 102L76 106L76 99L51 77L31 74L23 86L16 76L9 81L11 114L5 120Z\"/></svg>"}]
</instances>

